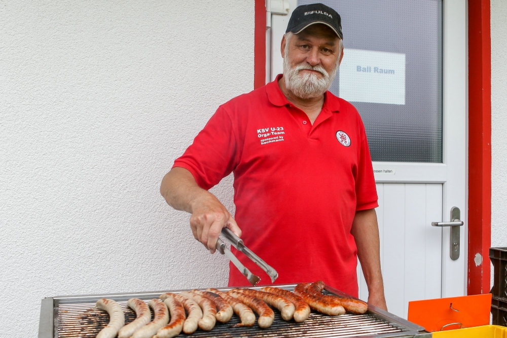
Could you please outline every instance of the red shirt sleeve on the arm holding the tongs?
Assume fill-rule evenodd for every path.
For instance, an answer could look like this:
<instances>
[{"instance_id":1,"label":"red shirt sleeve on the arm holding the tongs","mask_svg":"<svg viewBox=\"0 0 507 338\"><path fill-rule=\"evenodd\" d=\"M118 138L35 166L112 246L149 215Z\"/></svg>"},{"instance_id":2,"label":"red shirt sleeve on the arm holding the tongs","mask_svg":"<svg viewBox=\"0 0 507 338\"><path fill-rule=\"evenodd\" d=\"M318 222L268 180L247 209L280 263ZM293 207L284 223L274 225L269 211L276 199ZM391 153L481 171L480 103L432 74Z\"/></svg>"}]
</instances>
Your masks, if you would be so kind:
<instances>
[{"instance_id":1,"label":"red shirt sleeve on the arm holding the tongs","mask_svg":"<svg viewBox=\"0 0 507 338\"><path fill-rule=\"evenodd\" d=\"M209 119L172 167L190 171L197 184L210 189L229 175L236 165L237 142L235 130L227 111L221 106Z\"/></svg>"}]
</instances>

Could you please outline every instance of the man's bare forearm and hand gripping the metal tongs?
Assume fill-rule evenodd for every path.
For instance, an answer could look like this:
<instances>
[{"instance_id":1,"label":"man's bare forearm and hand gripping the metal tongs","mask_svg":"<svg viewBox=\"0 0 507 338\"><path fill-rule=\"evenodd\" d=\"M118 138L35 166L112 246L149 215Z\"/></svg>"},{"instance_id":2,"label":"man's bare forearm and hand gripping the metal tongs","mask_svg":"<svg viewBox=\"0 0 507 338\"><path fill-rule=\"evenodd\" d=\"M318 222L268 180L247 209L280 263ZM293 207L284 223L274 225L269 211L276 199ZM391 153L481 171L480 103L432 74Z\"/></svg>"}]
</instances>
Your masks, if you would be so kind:
<instances>
[{"instance_id":1,"label":"man's bare forearm and hand gripping the metal tongs","mask_svg":"<svg viewBox=\"0 0 507 338\"><path fill-rule=\"evenodd\" d=\"M192 174L180 167L164 176L160 193L176 210L190 212L190 227L194 238L211 253L216 250L216 240L223 227L241 237L241 229L227 208L210 192L197 185Z\"/></svg>"}]
</instances>

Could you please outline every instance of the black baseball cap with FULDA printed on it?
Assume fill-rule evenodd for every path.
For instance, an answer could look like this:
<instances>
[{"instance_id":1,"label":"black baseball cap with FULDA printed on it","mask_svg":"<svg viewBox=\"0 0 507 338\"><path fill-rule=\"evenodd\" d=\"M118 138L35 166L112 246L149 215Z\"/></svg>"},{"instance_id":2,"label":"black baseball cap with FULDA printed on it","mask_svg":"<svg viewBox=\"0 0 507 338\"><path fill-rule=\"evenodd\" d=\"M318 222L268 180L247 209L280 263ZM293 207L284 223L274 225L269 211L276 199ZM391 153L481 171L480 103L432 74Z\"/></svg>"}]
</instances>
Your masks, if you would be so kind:
<instances>
[{"instance_id":1,"label":"black baseball cap with FULDA printed on it","mask_svg":"<svg viewBox=\"0 0 507 338\"><path fill-rule=\"evenodd\" d=\"M285 33L290 31L297 34L310 25L322 23L333 29L336 35L343 39L341 22L340 14L331 7L323 4L301 5L292 12Z\"/></svg>"}]
</instances>

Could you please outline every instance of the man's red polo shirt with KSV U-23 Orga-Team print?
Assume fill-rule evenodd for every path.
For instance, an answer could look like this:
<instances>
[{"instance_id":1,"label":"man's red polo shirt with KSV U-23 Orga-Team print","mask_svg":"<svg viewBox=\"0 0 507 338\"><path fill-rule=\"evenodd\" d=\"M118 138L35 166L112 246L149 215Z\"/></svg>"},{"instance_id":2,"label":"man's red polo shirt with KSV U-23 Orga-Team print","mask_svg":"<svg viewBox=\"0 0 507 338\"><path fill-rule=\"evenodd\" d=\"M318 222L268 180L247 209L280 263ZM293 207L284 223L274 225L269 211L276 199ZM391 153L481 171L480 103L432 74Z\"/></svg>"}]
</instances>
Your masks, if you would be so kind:
<instances>
[{"instance_id":1,"label":"man's red polo shirt with KSV U-23 Orga-Team print","mask_svg":"<svg viewBox=\"0 0 507 338\"><path fill-rule=\"evenodd\" d=\"M234 173L235 219L247 247L279 274L276 283L323 280L357 296L356 210L378 207L365 128L357 110L331 92L313 123L278 86L219 107L174 166L203 189ZM250 271L270 279L242 253ZM230 286L247 285L231 264Z\"/></svg>"}]
</instances>

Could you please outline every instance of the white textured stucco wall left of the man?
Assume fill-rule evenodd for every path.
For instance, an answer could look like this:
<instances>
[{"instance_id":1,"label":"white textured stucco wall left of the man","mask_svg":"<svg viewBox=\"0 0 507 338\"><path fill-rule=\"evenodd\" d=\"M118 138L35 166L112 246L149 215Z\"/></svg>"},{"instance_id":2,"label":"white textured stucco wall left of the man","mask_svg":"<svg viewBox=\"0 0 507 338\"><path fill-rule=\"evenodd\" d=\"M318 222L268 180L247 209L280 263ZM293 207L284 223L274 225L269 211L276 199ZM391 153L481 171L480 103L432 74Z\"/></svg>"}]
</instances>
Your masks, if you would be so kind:
<instances>
[{"instance_id":1,"label":"white textured stucco wall left of the man","mask_svg":"<svg viewBox=\"0 0 507 338\"><path fill-rule=\"evenodd\" d=\"M225 257L159 186L215 109L253 88L253 8L0 5L1 336L36 336L45 296L226 285ZM213 191L233 212L231 183Z\"/></svg>"}]
</instances>

